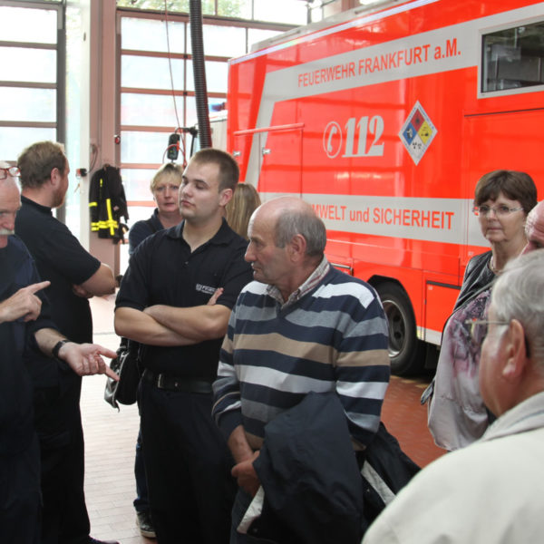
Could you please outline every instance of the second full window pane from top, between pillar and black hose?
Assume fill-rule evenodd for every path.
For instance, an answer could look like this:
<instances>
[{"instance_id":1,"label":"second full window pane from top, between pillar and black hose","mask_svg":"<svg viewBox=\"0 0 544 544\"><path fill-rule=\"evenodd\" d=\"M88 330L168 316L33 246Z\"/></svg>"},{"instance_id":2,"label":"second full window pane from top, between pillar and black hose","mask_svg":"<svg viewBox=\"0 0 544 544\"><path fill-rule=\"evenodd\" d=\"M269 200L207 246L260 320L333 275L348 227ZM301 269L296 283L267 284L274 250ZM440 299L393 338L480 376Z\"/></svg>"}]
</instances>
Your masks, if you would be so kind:
<instances>
[{"instance_id":1,"label":"second full window pane from top, between pillar and black hose","mask_svg":"<svg viewBox=\"0 0 544 544\"><path fill-rule=\"evenodd\" d=\"M183 61L171 60L176 91L183 89ZM121 56L121 86L141 89L171 89L168 59L142 57L131 54Z\"/></svg>"}]
</instances>

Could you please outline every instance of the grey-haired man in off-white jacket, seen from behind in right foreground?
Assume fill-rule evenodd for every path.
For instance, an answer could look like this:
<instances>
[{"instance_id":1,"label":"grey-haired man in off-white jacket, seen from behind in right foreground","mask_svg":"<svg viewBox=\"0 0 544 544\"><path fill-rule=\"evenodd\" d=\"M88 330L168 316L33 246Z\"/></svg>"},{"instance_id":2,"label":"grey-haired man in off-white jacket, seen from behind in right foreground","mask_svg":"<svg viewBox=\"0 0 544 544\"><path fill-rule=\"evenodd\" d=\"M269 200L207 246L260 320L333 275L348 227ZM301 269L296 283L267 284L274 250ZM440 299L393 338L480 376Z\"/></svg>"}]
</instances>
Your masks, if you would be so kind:
<instances>
[{"instance_id":1,"label":"grey-haired man in off-white jacket, seen from behind in right foreground","mask_svg":"<svg viewBox=\"0 0 544 544\"><path fill-rule=\"evenodd\" d=\"M364 544L541 542L544 535L544 251L505 267L491 294L480 388L498 419L384 510Z\"/></svg>"}]
</instances>

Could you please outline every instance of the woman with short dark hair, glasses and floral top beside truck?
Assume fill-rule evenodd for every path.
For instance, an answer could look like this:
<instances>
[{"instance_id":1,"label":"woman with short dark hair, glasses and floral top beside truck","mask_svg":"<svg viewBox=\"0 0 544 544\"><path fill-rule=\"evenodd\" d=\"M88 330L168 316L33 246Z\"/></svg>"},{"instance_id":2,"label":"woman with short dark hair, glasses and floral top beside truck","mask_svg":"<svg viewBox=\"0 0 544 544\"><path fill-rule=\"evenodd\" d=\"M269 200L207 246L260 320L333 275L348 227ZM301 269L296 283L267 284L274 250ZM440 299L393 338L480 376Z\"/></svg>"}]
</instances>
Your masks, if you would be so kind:
<instances>
[{"instance_id":1,"label":"woman with short dark hair, glasses and floral top beside truck","mask_svg":"<svg viewBox=\"0 0 544 544\"><path fill-rule=\"evenodd\" d=\"M434 442L446 450L474 442L494 419L481 400L478 383L486 329L471 324L485 319L494 279L527 244L525 219L536 204L537 188L525 172L495 170L476 184L473 212L491 250L472 257L466 267L442 332L435 378L422 397L422 402L430 399L428 424Z\"/></svg>"}]
</instances>

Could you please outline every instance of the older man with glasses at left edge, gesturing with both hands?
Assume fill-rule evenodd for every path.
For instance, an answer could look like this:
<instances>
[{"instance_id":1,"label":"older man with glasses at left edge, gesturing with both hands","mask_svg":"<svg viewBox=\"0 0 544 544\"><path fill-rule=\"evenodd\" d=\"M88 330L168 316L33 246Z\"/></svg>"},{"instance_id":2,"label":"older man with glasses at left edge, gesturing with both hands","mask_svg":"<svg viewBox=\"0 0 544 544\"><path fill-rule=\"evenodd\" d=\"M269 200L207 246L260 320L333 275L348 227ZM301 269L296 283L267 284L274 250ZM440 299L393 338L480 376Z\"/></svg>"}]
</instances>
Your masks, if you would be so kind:
<instances>
[{"instance_id":1,"label":"older man with glasses at left edge, gesturing with both hands","mask_svg":"<svg viewBox=\"0 0 544 544\"><path fill-rule=\"evenodd\" d=\"M0 161L0 542L35 544L40 537L40 453L33 387L25 355L35 345L73 374L115 374L102 360L115 352L74 344L56 330L34 259L14 235L21 208L16 167ZM53 361L56 359L56 361Z\"/></svg>"}]
</instances>

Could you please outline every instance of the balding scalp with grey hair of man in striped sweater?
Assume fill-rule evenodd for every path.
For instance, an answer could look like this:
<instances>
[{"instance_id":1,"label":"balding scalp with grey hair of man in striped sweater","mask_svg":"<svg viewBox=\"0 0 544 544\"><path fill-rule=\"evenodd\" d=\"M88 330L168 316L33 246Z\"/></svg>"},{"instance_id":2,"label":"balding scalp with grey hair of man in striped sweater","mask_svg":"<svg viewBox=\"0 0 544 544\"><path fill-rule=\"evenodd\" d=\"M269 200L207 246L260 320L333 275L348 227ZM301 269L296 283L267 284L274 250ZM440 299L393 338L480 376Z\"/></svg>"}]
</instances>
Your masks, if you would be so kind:
<instances>
[{"instance_id":1,"label":"balding scalp with grey hair of man in striped sweater","mask_svg":"<svg viewBox=\"0 0 544 544\"><path fill-rule=\"evenodd\" d=\"M249 222L258 221L267 225L274 233L277 248L285 248L296 236L306 239L306 255L321 259L325 251L326 231L316 212L302 199L296 197L279 197L268 200L259 206Z\"/></svg>"}]
</instances>

